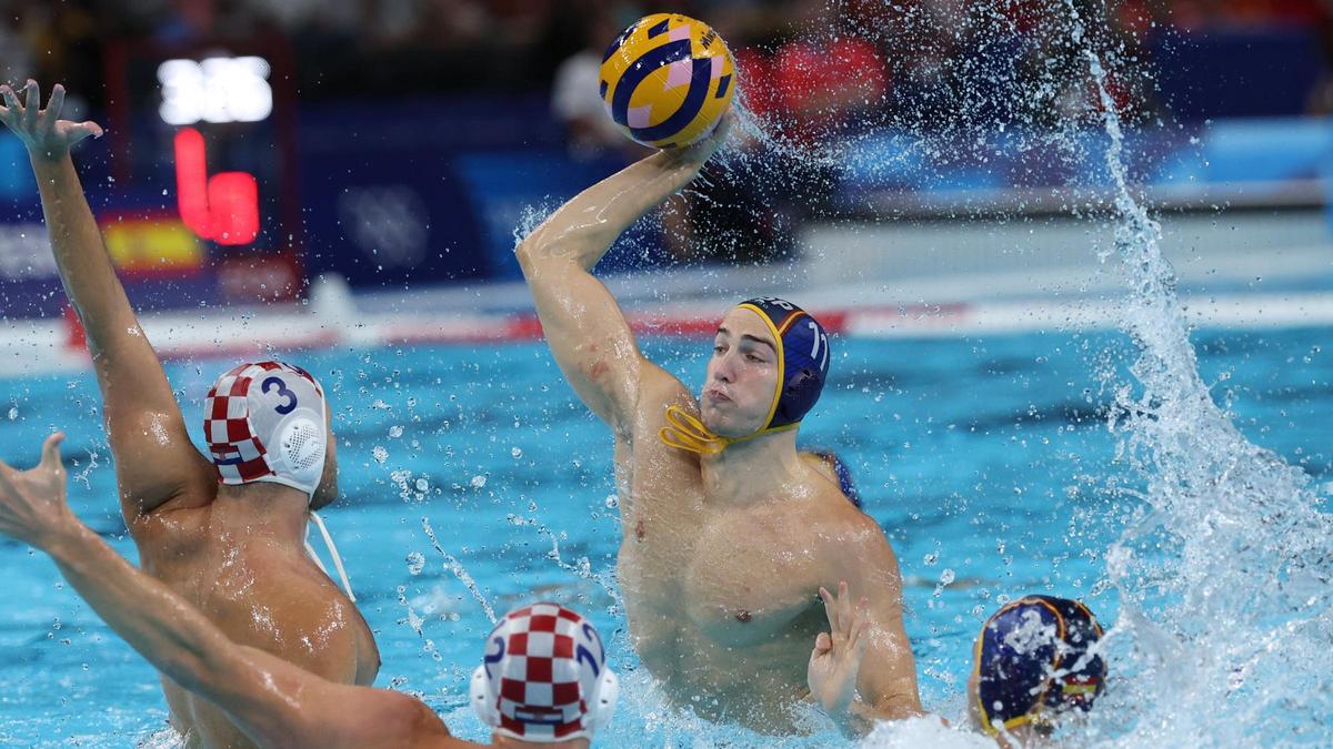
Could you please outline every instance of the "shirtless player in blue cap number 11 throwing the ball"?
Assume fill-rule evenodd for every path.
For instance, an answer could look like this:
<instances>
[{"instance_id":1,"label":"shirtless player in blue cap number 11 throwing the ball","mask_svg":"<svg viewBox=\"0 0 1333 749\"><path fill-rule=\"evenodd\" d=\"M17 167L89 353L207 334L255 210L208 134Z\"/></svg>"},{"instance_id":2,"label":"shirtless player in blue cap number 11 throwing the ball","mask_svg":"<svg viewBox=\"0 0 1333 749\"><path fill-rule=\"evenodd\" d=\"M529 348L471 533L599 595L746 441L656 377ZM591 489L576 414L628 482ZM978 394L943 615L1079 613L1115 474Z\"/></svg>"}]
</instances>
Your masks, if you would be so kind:
<instances>
[{"instance_id":1,"label":"shirtless player in blue cap number 11 throwing the ball","mask_svg":"<svg viewBox=\"0 0 1333 749\"><path fill-rule=\"evenodd\" d=\"M677 705L760 730L793 728L817 590L872 601L856 714L920 712L901 577L880 526L796 429L828 373L828 337L796 305L758 299L722 319L696 401L648 361L591 271L640 216L682 189L725 139L649 156L567 203L517 248L547 341L615 434L619 580L635 646Z\"/></svg>"}]
</instances>

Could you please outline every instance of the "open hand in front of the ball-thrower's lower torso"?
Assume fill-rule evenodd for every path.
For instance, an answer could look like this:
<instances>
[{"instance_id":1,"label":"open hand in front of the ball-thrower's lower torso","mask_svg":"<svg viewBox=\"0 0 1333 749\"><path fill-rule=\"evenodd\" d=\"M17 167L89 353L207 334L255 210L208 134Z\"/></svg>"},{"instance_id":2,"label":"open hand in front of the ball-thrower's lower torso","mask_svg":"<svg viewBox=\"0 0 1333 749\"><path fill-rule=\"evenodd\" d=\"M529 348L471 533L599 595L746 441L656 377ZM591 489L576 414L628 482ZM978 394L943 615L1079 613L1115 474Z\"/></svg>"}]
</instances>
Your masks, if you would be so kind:
<instances>
[{"instance_id":1,"label":"open hand in front of the ball-thrower's lower torso","mask_svg":"<svg viewBox=\"0 0 1333 749\"><path fill-rule=\"evenodd\" d=\"M837 718L856 696L856 677L861 672L865 646L870 642L870 601L861 598L853 606L846 582L838 584L837 596L820 588L820 598L824 600L829 632L816 637L805 673L810 694L829 716Z\"/></svg>"}]
</instances>

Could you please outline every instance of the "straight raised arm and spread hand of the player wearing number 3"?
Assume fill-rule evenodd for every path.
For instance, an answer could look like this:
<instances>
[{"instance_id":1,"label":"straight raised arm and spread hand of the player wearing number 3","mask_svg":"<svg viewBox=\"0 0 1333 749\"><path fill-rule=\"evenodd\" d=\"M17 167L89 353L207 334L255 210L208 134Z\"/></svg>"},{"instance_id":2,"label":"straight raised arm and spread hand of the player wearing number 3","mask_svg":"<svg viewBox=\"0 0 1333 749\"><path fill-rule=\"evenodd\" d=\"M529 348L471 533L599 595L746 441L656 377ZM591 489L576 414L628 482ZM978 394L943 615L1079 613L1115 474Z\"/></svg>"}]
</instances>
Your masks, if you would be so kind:
<instances>
[{"instance_id":1,"label":"straight raised arm and spread hand of the player wearing number 3","mask_svg":"<svg viewBox=\"0 0 1333 749\"><path fill-rule=\"evenodd\" d=\"M65 99L60 85L40 112L36 81L28 81L25 104L9 87L0 87L0 121L28 148L60 280L88 332L121 510L133 528L143 513L177 496L207 496L209 464L189 441L167 374L116 279L69 157L72 145L100 137L101 128L59 119ZM195 488L200 490L189 492Z\"/></svg>"}]
</instances>

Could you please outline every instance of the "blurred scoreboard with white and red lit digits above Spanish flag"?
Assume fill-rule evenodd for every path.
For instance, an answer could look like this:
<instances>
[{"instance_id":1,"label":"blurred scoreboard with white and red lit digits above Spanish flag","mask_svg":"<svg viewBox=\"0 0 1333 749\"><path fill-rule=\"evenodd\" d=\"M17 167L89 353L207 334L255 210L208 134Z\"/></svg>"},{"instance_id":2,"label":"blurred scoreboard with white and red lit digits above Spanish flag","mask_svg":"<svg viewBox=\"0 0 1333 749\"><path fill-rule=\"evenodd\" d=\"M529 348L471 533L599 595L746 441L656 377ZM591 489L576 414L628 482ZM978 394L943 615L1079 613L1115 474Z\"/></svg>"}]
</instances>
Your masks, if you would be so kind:
<instances>
[{"instance_id":1,"label":"blurred scoreboard with white and red lit digits above Spanish flag","mask_svg":"<svg viewBox=\"0 0 1333 749\"><path fill-rule=\"evenodd\" d=\"M123 275L193 277L223 304L300 296L304 232L285 40L121 41L107 60L109 171L124 205L100 217ZM108 207L117 203L108 196Z\"/></svg>"}]
</instances>

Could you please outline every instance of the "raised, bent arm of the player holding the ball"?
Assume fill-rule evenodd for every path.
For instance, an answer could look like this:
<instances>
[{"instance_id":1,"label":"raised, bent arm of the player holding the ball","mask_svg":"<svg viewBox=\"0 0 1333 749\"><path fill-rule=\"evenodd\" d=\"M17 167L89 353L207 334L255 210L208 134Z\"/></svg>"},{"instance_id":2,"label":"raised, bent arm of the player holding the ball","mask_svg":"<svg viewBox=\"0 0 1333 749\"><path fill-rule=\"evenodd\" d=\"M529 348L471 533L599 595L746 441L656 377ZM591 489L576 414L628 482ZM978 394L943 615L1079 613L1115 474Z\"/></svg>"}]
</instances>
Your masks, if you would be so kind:
<instances>
[{"instance_id":1,"label":"raised, bent arm of the player holding the ball","mask_svg":"<svg viewBox=\"0 0 1333 749\"><path fill-rule=\"evenodd\" d=\"M584 404L621 432L648 368L629 323L592 276L640 216L680 192L726 139L730 115L706 140L661 151L583 191L516 249L556 364Z\"/></svg>"}]
</instances>

